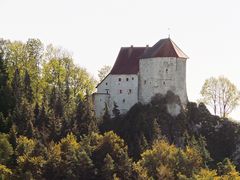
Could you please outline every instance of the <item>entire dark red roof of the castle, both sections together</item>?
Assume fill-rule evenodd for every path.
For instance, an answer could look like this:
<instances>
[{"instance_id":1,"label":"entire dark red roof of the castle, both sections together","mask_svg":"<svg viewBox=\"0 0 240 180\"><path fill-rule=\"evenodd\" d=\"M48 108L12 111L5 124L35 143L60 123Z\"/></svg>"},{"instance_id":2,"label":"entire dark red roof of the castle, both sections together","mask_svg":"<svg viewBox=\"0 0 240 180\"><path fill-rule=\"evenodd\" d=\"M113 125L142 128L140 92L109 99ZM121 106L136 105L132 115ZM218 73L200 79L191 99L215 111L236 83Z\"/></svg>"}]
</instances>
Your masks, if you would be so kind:
<instances>
[{"instance_id":1,"label":"entire dark red roof of the castle, both sections together","mask_svg":"<svg viewBox=\"0 0 240 180\"><path fill-rule=\"evenodd\" d=\"M137 74L139 60L154 57L188 56L170 39L161 39L153 47L122 47L110 74Z\"/></svg>"}]
</instances>

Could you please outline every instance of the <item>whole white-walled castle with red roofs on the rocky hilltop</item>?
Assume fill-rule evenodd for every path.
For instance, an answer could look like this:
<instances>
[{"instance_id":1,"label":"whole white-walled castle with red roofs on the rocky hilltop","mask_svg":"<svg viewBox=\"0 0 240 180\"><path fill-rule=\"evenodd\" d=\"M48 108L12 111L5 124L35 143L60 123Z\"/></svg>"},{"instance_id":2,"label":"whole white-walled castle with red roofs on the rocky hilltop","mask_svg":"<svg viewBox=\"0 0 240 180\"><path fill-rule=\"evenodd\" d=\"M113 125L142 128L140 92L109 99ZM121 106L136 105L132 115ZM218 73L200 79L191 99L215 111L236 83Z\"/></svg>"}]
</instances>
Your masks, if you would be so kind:
<instances>
[{"instance_id":1,"label":"whole white-walled castle with red roofs on the rocky hilltop","mask_svg":"<svg viewBox=\"0 0 240 180\"><path fill-rule=\"evenodd\" d=\"M170 38L152 47L122 47L112 70L93 94L96 116L103 116L105 104L110 114L114 103L121 113L126 113L134 104L148 103L154 95L169 90L187 104L187 59Z\"/></svg>"}]
</instances>

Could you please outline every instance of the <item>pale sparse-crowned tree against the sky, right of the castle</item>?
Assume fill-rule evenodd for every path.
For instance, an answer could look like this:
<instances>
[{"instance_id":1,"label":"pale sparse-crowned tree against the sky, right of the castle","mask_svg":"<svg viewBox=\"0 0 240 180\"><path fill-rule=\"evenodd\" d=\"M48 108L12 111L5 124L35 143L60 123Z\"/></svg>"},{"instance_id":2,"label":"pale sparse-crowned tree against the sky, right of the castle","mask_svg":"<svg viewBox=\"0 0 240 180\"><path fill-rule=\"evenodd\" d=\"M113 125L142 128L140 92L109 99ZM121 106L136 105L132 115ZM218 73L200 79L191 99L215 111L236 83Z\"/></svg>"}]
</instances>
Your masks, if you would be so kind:
<instances>
[{"instance_id":1,"label":"pale sparse-crowned tree against the sky, right of the castle","mask_svg":"<svg viewBox=\"0 0 240 180\"><path fill-rule=\"evenodd\" d=\"M207 79L201 90L202 101L213 108L215 115L227 117L239 103L240 92L225 77Z\"/></svg>"}]
</instances>

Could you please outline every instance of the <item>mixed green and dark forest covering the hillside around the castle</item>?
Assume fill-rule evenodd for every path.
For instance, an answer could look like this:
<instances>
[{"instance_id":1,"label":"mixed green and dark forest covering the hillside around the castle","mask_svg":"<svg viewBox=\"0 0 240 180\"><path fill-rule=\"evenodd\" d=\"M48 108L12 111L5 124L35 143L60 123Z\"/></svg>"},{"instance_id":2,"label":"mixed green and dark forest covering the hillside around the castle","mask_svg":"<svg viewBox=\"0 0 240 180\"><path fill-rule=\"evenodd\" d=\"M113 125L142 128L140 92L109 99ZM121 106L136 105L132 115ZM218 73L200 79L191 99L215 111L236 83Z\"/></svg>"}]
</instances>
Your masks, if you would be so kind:
<instances>
[{"instance_id":1,"label":"mixed green and dark forest covering the hillside around the castle","mask_svg":"<svg viewBox=\"0 0 240 180\"><path fill-rule=\"evenodd\" d=\"M0 39L0 179L240 179L239 123L170 91L97 119L96 84L62 48Z\"/></svg>"}]
</instances>

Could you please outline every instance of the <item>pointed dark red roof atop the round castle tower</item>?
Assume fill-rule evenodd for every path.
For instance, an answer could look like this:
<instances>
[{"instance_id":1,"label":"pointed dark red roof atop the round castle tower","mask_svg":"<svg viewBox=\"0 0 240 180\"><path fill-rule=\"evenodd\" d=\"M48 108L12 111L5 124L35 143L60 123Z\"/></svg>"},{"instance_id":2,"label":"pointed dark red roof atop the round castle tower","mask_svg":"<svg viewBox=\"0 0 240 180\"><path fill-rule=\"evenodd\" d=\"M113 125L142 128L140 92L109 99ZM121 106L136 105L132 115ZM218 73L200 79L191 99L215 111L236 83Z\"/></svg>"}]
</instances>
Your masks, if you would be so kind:
<instances>
[{"instance_id":1,"label":"pointed dark red roof atop the round castle tower","mask_svg":"<svg viewBox=\"0 0 240 180\"><path fill-rule=\"evenodd\" d=\"M188 59L188 56L170 39L161 39L141 56L141 59L154 57L177 57Z\"/></svg>"}]
</instances>

